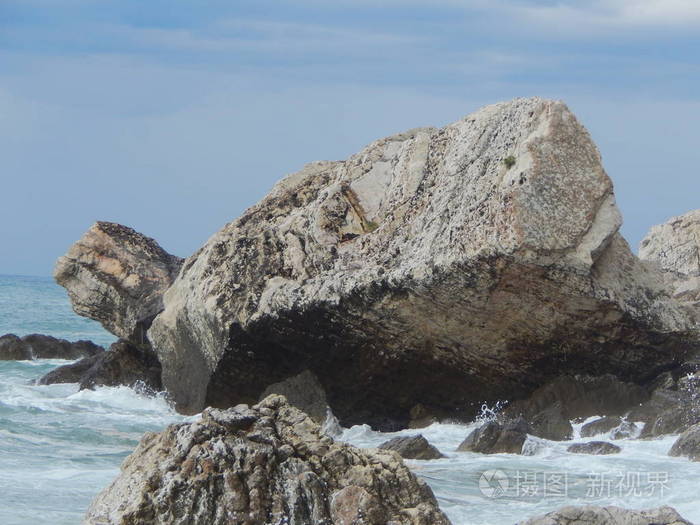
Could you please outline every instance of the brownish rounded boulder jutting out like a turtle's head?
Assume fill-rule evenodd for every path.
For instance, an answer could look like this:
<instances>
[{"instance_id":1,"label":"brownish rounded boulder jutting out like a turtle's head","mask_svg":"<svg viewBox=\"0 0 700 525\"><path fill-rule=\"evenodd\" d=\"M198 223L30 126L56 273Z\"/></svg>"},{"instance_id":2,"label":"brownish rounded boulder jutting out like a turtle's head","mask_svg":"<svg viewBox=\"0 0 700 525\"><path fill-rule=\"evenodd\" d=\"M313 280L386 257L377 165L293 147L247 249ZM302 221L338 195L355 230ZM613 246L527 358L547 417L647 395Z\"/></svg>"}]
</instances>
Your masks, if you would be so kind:
<instances>
[{"instance_id":1,"label":"brownish rounded boulder jutting out like a turtle's head","mask_svg":"<svg viewBox=\"0 0 700 525\"><path fill-rule=\"evenodd\" d=\"M181 265L181 258L153 239L120 224L97 222L58 259L54 278L68 291L77 314L141 345Z\"/></svg>"}]
</instances>

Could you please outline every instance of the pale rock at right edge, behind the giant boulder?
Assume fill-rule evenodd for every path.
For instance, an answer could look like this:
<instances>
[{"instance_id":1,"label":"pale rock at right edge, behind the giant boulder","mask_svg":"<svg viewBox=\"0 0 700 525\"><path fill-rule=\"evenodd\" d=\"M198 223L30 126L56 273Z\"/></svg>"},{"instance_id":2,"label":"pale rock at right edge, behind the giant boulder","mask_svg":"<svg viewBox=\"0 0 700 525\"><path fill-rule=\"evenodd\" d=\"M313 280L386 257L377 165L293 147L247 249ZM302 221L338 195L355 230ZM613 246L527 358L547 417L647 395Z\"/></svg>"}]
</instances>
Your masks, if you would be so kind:
<instances>
[{"instance_id":1,"label":"pale rock at right edge, behind the giant boulder","mask_svg":"<svg viewBox=\"0 0 700 525\"><path fill-rule=\"evenodd\" d=\"M639 245L639 258L666 272L676 298L700 307L700 210L654 226Z\"/></svg>"}]
</instances>

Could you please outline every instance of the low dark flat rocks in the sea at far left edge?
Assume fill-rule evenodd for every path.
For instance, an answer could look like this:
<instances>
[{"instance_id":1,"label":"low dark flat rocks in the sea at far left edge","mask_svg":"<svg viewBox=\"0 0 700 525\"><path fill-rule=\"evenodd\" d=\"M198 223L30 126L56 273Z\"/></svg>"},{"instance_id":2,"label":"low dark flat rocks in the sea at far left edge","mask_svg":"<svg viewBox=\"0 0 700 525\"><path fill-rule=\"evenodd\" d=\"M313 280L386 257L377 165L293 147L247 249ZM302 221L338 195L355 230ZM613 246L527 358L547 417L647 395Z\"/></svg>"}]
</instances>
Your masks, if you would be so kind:
<instances>
[{"instance_id":1,"label":"low dark flat rocks in the sea at far left edge","mask_svg":"<svg viewBox=\"0 0 700 525\"><path fill-rule=\"evenodd\" d=\"M22 338L14 334L0 337L0 360L80 359L104 352L91 341L71 343L48 335L32 334Z\"/></svg>"}]
</instances>

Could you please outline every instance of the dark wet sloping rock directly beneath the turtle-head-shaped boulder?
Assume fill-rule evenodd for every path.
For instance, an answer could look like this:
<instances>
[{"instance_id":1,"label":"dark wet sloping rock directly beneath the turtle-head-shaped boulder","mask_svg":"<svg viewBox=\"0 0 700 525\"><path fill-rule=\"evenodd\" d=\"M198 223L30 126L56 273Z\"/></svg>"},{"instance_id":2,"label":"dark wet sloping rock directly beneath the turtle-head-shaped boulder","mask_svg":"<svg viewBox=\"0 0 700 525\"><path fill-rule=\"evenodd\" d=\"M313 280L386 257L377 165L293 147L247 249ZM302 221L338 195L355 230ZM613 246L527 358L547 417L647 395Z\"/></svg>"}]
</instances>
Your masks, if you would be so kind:
<instances>
[{"instance_id":1,"label":"dark wet sloping rock directly beneath the turtle-head-shaped boulder","mask_svg":"<svg viewBox=\"0 0 700 525\"><path fill-rule=\"evenodd\" d=\"M39 384L80 383L80 389L96 386L145 387L160 392L160 363L147 348L117 341L109 351L102 352L52 370L39 379Z\"/></svg>"}]
</instances>

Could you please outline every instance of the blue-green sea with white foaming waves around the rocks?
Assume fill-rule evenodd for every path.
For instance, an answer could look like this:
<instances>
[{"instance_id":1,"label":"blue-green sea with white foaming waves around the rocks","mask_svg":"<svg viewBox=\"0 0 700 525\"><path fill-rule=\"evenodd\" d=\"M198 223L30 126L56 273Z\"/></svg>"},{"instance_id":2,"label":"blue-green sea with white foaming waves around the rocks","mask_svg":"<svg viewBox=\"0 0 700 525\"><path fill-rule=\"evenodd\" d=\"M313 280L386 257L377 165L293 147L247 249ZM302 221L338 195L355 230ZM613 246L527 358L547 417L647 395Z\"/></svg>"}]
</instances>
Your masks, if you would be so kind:
<instances>
[{"instance_id":1,"label":"blue-green sea with white foaming waves around the rocks","mask_svg":"<svg viewBox=\"0 0 700 525\"><path fill-rule=\"evenodd\" d=\"M105 347L114 341L98 323L74 314L65 291L45 277L0 276L0 335L5 333L90 339ZM196 418L177 414L163 395L147 397L126 387L78 391L75 384L34 383L68 362L0 361L0 525L80 523L144 432ZM484 407L480 419L491 416ZM700 463L667 455L677 436L619 440L622 452L610 456L570 454L569 442L537 438L526 442L527 455L456 452L479 424L421 429L447 457L407 461L455 525L512 525L584 504L670 505L700 524ZM376 447L417 432L355 426L337 439ZM601 438L606 436L576 441Z\"/></svg>"}]
</instances>

